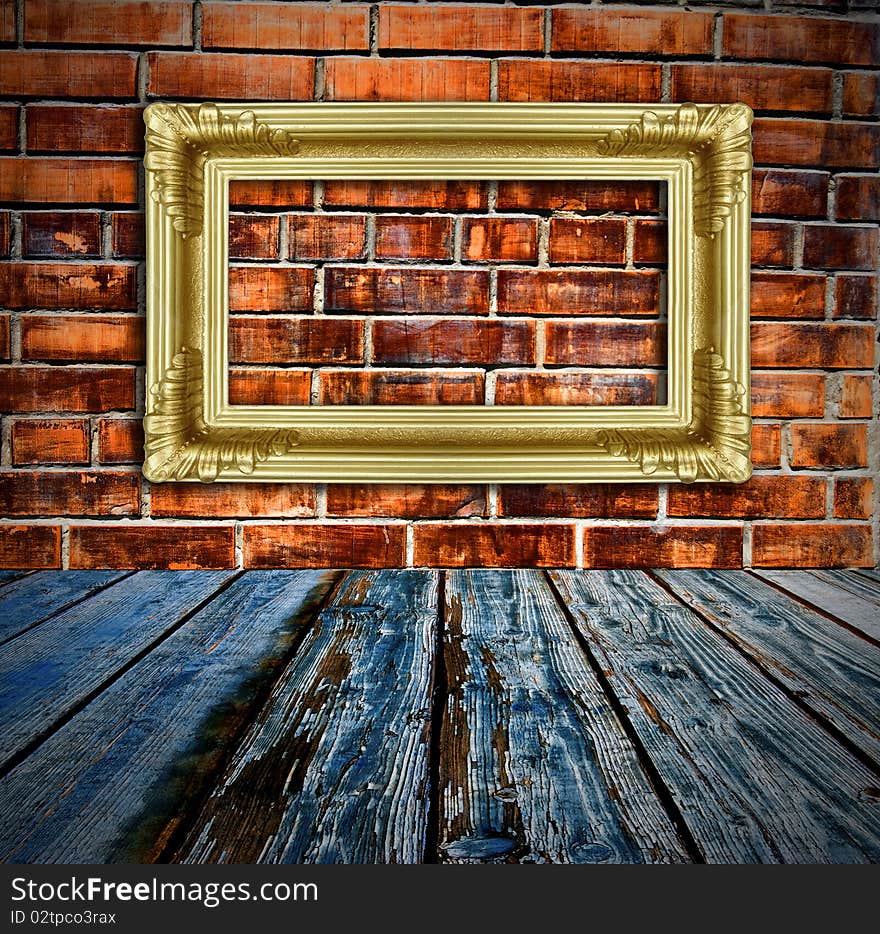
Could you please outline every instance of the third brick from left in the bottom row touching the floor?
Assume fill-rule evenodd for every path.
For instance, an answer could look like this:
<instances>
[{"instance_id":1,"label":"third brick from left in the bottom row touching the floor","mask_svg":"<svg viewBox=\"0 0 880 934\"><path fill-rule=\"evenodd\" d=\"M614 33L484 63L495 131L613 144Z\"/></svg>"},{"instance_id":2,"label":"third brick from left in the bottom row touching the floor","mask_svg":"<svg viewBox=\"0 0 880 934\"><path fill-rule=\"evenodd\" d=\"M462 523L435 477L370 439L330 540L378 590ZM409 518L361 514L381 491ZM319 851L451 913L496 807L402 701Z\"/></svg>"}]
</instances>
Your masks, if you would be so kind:
<instances>
[{"instance_id":1,"label":"third brick from left in the bottom row touching the floor","mask_svg":"<svg viewBox=\"0 0 880 934\"><path fill-rule=\"evenodd\" d=\"M246 525L247 568L387 568L406 563L406 527L349 523Z\"/></svg>"}]
</instances>

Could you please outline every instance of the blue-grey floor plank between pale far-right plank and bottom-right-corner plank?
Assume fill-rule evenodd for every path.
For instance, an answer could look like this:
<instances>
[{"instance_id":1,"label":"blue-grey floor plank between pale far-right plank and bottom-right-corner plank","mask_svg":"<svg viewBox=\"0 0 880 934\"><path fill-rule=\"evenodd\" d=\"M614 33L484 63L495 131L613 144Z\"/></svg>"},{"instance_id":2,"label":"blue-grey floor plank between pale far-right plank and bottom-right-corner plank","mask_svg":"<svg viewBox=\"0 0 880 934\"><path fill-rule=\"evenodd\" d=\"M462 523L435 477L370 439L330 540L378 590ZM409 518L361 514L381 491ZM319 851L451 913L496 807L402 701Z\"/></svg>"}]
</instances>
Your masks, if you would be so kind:
<instances>
[{"instance_id":1,"label":"blue-grey floor plank between pale far-right plank and bottom-right-corner plank","mask_svg":"<svg viewBox=\"0 0 880 934\"><path fill-rule=\"evenodd\" d=\"M880 763L880 648L744 571L655 573Z\"/></svg>"}]
</instances>

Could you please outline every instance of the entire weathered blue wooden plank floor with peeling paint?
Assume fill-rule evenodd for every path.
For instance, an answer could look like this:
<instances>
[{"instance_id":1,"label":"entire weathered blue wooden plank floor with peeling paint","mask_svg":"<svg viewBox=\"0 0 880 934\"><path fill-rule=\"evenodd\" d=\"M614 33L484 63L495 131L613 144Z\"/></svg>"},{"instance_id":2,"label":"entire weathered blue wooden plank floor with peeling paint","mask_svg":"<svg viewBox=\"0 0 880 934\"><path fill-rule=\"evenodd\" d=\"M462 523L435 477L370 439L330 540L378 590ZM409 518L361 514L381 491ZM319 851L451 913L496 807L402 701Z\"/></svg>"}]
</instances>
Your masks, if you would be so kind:
<instances>
[{"instance_id":1,"label":"entire weathered blue wooden plank floor with peeling paint","mask_svg":"<svg viewBox=\"0 0 880 934\"><path fill-rule=\"evenodd\" d=\"M873 571L0 577L11 862L877 862Z\"/></svg>"}]
</instances>

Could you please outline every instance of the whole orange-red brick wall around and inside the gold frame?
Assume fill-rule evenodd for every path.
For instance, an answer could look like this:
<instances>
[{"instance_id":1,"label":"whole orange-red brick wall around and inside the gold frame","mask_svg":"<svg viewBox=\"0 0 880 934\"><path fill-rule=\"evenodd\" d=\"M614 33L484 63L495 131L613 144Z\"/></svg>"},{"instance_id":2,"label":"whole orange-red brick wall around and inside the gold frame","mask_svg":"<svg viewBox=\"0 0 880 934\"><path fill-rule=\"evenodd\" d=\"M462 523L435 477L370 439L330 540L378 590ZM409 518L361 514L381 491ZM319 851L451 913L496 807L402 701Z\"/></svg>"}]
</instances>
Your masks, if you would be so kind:
<instances>
[{"instance_id":1,"label":"whole orange-red brick wall around and inside the gold frame","mask_svg":"<svg viewBox=\"0 0 880 934\"><path fill-rule=\"evenodd\" d=\"M874 566L878 62L874 0L0 0L0 564ZM140 110L159 98L745 101L753 479L151 487ZM662 392L662 195L642 189L242 186L233 398Z\"/></svg>"}]
</instances>

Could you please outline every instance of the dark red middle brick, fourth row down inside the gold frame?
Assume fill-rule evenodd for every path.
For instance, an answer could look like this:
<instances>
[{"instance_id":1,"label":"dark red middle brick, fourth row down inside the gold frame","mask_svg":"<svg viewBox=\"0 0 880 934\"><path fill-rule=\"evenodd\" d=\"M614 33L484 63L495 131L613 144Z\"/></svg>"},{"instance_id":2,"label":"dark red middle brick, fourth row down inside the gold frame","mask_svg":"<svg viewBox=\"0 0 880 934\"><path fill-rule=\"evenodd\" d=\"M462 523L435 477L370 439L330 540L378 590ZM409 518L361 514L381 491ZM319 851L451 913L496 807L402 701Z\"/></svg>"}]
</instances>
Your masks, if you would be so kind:
<instances>
[{"instance_id":1,"label":"dark red middle brick, fourth row down inside the gold frame","mask_svg":"<svg viewBox=\"0 0 880 934\"><path fill-rule=\"evenodd\" d=\"M382 364L527 365L535 362L535 323L380 318L373 324L373 359Z\"/></svg>"}]
</instances>

